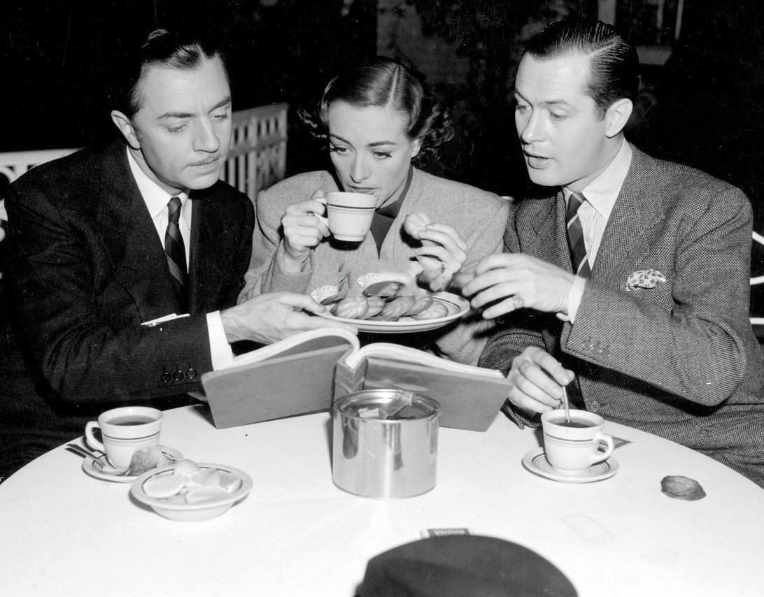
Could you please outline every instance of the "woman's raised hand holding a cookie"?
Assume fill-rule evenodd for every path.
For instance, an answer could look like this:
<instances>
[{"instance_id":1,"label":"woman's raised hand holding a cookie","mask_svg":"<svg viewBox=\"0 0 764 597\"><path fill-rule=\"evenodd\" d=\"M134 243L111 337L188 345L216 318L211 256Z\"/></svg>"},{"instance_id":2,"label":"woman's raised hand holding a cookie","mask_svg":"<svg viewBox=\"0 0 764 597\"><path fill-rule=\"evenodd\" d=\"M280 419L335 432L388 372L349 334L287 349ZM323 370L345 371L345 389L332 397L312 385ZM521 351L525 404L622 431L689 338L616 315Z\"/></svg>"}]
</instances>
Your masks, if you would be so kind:
<instances>
[{"instance_id":1,"label":"woman's raised hand holding a cookie","mask_svg":"<svg viewBox=\"0 0 764 597\"><path fill-rule=\"evenodd\" d=\"M422 241L422 247L414 251L422 266L419 281L432 291L445 289L467 260L465 241L448 224L432 222L422 213L407 215L403 229Z\"/></svg>"}]
</instances>

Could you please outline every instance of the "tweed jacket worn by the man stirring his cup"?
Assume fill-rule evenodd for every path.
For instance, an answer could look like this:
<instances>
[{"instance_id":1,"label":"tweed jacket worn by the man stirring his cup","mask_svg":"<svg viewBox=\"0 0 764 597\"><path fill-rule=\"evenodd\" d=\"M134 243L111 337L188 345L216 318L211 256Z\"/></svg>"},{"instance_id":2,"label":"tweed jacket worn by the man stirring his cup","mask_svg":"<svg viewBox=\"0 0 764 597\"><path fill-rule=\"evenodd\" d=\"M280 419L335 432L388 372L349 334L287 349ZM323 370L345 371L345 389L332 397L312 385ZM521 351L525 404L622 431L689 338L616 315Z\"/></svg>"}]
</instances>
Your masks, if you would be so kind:
<instances>
[{"instance_id":1,"label":"tweed jacket worn by the man stirring his cup","mask_svg":"<svg viewBox=\"0 0 764 597\"><path fill-rule=\"evenodd\" d=\"M740 189L633 147L575 323L516 311L481 365L507 373L535 344L575 371L581 408L700 450L764 485L764 371L749 324L751 221ZM504 245L571 271L562 192L516 205ZM627 284L647 269L665 282Z\"/></svg>"}]
</instances>

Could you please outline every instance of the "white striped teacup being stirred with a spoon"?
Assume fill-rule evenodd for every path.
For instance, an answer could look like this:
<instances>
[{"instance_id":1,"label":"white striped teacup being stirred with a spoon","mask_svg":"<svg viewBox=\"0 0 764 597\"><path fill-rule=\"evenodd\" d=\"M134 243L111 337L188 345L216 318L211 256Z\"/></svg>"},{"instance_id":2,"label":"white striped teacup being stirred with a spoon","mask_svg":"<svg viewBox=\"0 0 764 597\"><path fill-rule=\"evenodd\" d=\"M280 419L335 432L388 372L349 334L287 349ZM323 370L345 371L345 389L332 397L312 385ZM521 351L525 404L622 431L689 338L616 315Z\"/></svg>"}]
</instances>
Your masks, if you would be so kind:
<instances>
[{"instance_id":1,"label":"white striped teacup being stirred with a spoon","mask_svg":"<svg viewBox=\"0 0 764 597\"><path fill-rule=\"evenodd\" d=\"M602 432L604 419L589 411L571 410L571 423L565 411L557 409L541 415L546 460L558 473L582 475L593 464L613 453L613 438Z\"/></svg>"}]
</instances>

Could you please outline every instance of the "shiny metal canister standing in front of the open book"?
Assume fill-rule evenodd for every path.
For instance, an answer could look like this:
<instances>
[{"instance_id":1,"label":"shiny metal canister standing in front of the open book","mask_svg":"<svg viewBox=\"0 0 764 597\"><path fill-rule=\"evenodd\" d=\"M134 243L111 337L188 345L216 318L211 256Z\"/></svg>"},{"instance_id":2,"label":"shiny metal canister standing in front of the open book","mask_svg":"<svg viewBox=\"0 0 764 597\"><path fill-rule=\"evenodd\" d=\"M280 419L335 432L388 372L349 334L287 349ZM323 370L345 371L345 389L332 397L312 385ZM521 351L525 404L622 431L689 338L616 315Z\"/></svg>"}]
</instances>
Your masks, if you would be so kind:
<instances>
[{"instance_id":1,"label":"shiny metal canister standing in front of the open book","mask_svg":"<svg viewBox=\"0 0 764 597\"><path fill-rule=\"evenodd\" d=\"M332 479L369 498L406 498L435 487L440 407L426 396L371 389L336 399Z\"/></svg>"}]
</instances>

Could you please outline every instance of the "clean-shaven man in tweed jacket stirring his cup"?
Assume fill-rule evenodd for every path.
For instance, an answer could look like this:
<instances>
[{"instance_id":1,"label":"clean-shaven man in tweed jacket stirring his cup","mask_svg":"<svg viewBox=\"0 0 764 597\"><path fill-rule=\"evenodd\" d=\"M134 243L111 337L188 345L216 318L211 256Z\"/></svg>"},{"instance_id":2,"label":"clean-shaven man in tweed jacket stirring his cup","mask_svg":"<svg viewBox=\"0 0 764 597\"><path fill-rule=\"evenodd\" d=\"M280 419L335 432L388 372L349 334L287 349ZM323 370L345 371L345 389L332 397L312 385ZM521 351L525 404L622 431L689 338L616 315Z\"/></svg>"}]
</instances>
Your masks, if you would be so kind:
<instances>
[{"instance_id":1,"label":"clean-shaven man in tweed jacket stirring his cup","mask_svg":"<svg viewBox=\"0 0 764 597\"><path fill-rule=\"evenodd\" d=\"M480 364L507 373L519 424L537 425L571 384L578 408L764 486L751 208L739 189L626 143L637 67L603 23L560 21L530 40L516 126L530 178L555 194L514 206L506 252L464 287L503 319Z\"/></svg>"}]
</instances>

